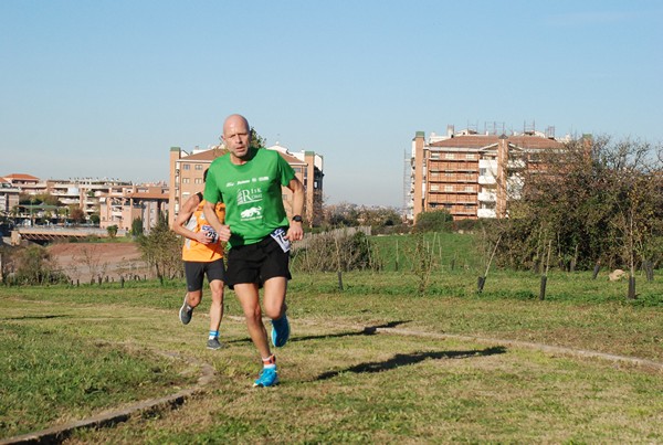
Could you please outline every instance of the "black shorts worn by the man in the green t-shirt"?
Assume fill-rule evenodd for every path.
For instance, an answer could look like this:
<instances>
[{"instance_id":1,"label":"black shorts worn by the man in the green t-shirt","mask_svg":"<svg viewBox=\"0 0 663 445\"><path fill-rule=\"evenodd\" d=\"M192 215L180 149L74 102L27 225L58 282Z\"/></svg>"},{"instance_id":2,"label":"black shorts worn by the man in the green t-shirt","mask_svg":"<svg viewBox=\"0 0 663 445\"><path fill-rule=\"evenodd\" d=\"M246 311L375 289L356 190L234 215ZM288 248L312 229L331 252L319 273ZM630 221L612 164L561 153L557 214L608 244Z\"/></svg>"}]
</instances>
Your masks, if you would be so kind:
<instances>
[{"instance_id":1,"label":"black shorts worn by the man in the green t-shirt","mask_svg":"<svg viewBox=\"0 0 663 445\"><path fill-rule=\"evenodd\" d=\"M283 248L267 235L255 244L232 247L228 252L228 286L232 289L235 284L256 283L261 287L270 278L277 276L291 279L290 252Z\"/></svg>"}]
</instances>

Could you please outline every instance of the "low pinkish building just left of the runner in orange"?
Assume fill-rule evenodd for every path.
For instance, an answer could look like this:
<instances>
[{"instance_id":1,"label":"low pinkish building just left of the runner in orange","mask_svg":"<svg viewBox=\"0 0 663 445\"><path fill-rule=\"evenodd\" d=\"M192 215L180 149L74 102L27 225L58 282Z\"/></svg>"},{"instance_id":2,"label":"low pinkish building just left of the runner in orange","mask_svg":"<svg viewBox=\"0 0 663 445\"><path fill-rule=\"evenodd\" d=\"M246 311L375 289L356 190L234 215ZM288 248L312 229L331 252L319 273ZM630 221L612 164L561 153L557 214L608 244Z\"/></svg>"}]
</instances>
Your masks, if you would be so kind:
<instances>
[{"instance_id":1,"label":"low pinkish building just left of the runner in orange","mask_svg":"<svg viewBox=\"0 0 663 445\"><path fill-rule=\"evenodd\" d=\"M112 187L99 197L99 227L117 225L118 232L130 231L134 220L143 222L149 233L168 211L169 188L162 182Z\"/></svg>"}]
</instances>

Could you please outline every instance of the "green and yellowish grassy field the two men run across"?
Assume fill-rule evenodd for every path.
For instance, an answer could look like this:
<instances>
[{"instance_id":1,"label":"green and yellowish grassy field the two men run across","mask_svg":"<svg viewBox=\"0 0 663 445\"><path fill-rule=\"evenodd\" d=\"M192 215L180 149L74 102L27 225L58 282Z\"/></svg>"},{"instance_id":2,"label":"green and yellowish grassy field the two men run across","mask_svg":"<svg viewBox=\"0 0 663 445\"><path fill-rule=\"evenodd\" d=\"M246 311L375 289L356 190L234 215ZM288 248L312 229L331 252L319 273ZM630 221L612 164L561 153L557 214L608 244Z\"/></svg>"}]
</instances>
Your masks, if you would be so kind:
<instances>
[{"instance_id":1,"label":"green and yellowish grassy field the two men run across","mask_svg":"<svg viewBox=\"0 0 663 445\"><path fill-rule=\"evenodd\" d=\"M295 274L282 384L251 388L259 358L232 292L204 348L208 300L183 327L183 283L2 287L0 438L213 382L178 410L74 433L69 443L662 443L663 372L502 340L663 362L663 283L589 273L438 271L425 296L401 271ZM375 333L371 327L422 333ZM423 335L428 335L423 336ZM459 337L459 336L466 336ZM474 340L472 339L474 338ZM487 339L495 339L486 340Z\"/></svg>"}]
</instances>

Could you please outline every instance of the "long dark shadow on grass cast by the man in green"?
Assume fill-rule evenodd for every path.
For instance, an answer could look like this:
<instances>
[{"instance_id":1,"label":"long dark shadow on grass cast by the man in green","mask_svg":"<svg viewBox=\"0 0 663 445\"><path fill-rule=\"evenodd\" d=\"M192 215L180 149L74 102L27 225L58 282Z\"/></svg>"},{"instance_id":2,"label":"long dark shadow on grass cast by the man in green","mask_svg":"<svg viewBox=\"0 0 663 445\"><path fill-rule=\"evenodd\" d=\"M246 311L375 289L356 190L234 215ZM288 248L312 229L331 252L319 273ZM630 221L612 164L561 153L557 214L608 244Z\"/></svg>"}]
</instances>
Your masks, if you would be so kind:
<instances>
[{"instance_id":1,"label":"long dark shadow on grass cast by the man in green","mask_svg":"<svg viewBox=\"0 0 663 445\"><path fill-rule=\"evenodd\" d=\"M373 361L368 363L359 363L354 367L347 368L340 371L328 371L323 372L315 380L327 380L333 379L344 372L354 373L372 373L382 372L408 364L417 364L427 359L441 360L441 359L470 359L473 357L485 357L494 356L498 353L506 353L506 348L502 346L475 349L471 351L440 351L440 352L415 352L415 353L397 353L387 361Z\"/></svg>"}]
</instances>

